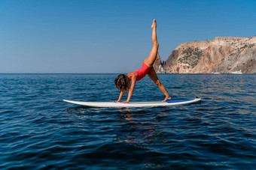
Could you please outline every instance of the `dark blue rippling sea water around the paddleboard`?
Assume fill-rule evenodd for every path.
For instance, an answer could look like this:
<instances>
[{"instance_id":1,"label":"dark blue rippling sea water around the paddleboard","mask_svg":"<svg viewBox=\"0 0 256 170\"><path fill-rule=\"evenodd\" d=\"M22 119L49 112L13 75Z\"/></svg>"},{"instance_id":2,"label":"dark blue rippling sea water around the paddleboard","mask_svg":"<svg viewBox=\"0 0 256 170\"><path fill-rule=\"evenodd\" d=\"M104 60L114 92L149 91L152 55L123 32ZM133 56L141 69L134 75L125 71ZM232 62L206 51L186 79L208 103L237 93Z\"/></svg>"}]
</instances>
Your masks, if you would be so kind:
<instances>
[{"instance_id":1,"label":"dark blue rippling sea water around the paddleboard","mask_svg":"<svg viewBox=\"0 0 256 170\"><path fill-rule=\"evenodd\" d=\"M256 169L256 75L160 74L173 100L113 101L117 74L0 74L0 169ZM146 77L132 101L163 100ZM126 96L123 98L126 100Z\"/></svg>"}]
</instances>

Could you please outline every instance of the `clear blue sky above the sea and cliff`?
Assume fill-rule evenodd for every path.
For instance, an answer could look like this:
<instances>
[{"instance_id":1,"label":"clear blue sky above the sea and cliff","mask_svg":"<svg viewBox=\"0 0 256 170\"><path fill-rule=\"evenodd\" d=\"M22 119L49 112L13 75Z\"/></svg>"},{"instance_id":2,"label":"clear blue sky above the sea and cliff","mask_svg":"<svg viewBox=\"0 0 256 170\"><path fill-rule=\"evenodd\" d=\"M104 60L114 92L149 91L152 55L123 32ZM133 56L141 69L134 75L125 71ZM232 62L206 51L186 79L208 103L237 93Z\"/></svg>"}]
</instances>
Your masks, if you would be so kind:
<instances>
[{"instance_id":1,"label":"clear blue sky above the sea and cliff","mask_svg":"<svg viewBox=\"0 0 256 170\"><path fill-rule=\"evenodd\" d=\"M151 50L256 35L256 1L1 0L0 73L127 73Z\"/></svg>"}]
</instances>

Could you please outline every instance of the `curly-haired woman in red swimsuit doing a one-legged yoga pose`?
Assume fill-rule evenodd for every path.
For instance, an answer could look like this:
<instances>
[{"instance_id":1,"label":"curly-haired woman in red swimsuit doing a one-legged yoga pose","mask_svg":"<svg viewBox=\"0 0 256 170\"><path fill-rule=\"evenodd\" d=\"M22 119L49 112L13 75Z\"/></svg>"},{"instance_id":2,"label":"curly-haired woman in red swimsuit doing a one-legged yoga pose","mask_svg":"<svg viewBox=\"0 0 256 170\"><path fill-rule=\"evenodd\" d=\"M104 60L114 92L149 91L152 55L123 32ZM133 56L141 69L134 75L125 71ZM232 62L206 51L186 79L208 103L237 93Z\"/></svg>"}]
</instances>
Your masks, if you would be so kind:
<instances>
[{"instance_id":1,"label":"curly-haired woman in red swimsuit doing a one-legged yoga pose","mask_svg":"<svg viewBox=\"0 0 256 170\"><path fill-rule=\"evenodd\" d=\"M132 95L133 90L136 85L136 81L141 80L143 77L145 77L147 74L148 76L154 81L154 83L160 88L160 90L163 92L163 94L166 95L166 98L163 101L170 100L171 97L169 96L168 92L166 91L166 88L162 85L160 80L157 78L157 73L154 70L153 64L155 59L157 58L157 50L158 50L158 43L157 43L157 22L156 19L153 20L153 24L151 25L152 28L152 43L153 47L151 49L151 53L146 58L142 64L142 67L139 70L136 70L134 72L128 73L127 76L120 74L117 76L117 78L114 80L114 84L118 90L120 90L120 95L117 101L120 102L121 98L123 97L123 94L125 94L126 91L129 90L129 94L126 101L123 101L121 103L129 103ZM130 84L130 81L132 82L132 85Z\"/></svg>"}]
</instances>

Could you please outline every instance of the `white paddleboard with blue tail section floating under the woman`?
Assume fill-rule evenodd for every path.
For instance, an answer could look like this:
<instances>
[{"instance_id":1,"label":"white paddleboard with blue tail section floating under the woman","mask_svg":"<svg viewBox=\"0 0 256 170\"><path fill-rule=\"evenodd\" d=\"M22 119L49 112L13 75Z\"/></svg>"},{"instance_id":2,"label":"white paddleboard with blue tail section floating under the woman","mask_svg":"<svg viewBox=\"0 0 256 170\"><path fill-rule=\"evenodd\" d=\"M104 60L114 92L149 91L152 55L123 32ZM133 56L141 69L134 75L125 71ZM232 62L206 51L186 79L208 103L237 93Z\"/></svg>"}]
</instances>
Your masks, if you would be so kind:
<instances>
[{"instance_id":1,"label":"white paddleboard with blue tail section floating under the woman","mask_svg":"<svg viewBox=\"0 0 256 170\"><path fill-rule=\"evenodd\" d=\"M195 103L200 101L200 98L187 99L187 100L167 100L166 102L130 102L130 103L115 103L115 102L78 102L72 100L63 100L68 103L78 104L81 106L91 106L91 107L157 107L157 106L177 106L189 103Z\"/></svg>"}]
</instances>

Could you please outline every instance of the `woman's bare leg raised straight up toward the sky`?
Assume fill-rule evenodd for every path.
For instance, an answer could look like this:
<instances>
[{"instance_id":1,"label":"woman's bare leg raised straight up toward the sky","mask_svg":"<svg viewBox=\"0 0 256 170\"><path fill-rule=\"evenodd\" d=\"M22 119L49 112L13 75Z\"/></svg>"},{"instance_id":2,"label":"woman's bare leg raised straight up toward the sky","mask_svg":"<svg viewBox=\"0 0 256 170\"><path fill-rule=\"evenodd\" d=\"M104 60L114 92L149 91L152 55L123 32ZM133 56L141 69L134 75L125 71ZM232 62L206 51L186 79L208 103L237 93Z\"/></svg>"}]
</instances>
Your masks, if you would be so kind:
<instances>
[{"instance_id":1,"label":"woman's bare leg raised straight up toward the sky","mask_svg":"<svg viewBox=\"0 0 256 170\"><path fill-rule=\"evenodd\" d=\"M148 55L148 58L144 60L145 64L151 67L154 64L154 61L157 58L157 50L158 50L158 43L157 43L157 22L156 19L153 20L153 24L151 25L152 28L152 43L153 47L151 49L151 53Z\"/></svg>"}]
</instances>

